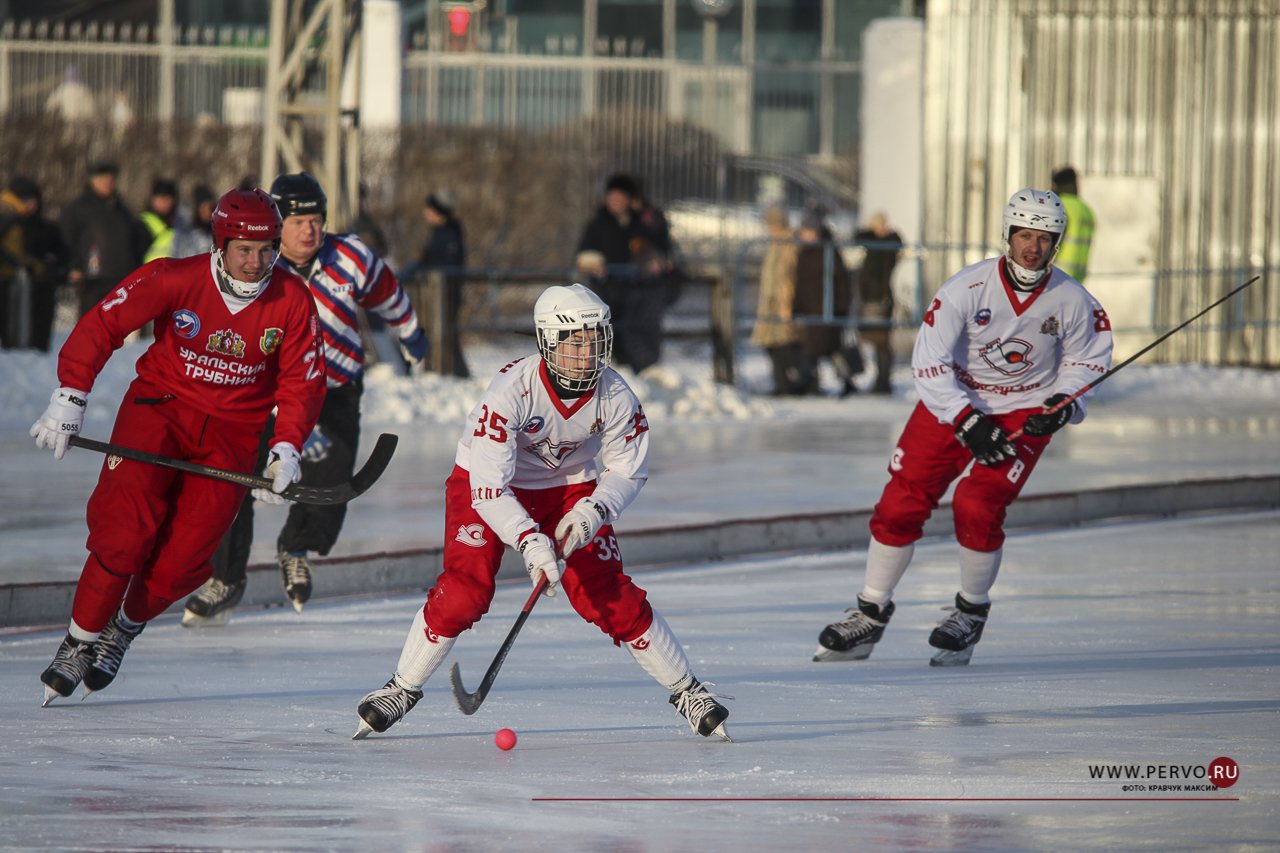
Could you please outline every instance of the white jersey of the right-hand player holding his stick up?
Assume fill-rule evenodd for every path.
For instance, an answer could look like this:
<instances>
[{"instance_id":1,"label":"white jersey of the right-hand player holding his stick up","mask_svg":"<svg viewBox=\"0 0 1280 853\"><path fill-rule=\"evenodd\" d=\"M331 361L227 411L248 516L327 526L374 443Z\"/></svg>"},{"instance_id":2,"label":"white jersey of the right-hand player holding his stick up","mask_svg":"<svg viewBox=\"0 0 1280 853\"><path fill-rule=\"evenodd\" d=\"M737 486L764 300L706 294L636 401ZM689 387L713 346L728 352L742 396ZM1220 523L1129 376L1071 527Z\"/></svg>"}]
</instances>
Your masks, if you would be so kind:
<instances>
[{"instance_id":1,"label":"white jersey of the right-hand player holding his stick up","mask_svg":"<svg viewBox=\"0 0 1280 853\"><path fill-rule=\"evenodd\" d=\"M1055 266L1044 284L1021 292L1001 260L948 278L924 313L911 371L941 423L966 406L997 415L1036 409L1111 368L1111 321L1079 282ZM1073 423L1084 419L1084 398L1076 402Z\"/></svg>"}]
</instances>

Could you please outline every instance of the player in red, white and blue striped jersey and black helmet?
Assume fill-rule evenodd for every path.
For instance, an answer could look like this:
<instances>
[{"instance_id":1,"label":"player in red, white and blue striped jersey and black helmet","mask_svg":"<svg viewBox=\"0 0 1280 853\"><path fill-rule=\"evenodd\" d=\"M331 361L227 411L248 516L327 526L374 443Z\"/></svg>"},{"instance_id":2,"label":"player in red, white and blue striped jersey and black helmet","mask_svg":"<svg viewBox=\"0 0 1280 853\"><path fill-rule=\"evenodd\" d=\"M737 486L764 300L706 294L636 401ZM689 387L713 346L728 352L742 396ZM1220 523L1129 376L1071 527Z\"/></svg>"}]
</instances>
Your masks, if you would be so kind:
<instances>
[{"instance_id":1,"label":"player in red, white and blue striped jersey and black helmet","mask_svg":"<svg viewBox=\"0 0 1280 853\"><path fill-rule=\"evenodd\" d=\"M329 485L349 479L356 467L365 371L358 310L385 320L413 364L426 357L426 333L390 266L355 234L325 231L328 196L314 177L306 172L282 174L271 183L271 197L284 216L276 264L297 273L311 288L329 375L329 393L320 420L302 448L302 476L306 483ZM275 502L261 492L257 497ZM276 539L276 560L284 592L298 612L311 597L307 555L329 553L346 515L347 507L342 503L294 503L289 507ZM214 576L187 599L184 625L227 624L244 592L252 540L253 501L250 498L214 556Z\"/></svg>"}]
</instances>

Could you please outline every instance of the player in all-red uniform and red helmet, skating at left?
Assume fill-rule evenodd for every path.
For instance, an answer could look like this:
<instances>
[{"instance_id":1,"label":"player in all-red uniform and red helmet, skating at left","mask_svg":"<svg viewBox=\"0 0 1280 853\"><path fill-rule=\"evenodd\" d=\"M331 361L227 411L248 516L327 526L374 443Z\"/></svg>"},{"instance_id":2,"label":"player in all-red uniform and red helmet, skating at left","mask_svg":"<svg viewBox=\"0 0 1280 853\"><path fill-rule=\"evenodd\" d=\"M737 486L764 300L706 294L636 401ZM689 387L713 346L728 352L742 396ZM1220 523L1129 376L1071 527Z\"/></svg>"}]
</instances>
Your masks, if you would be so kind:
<instances>
[{"instance_id":1,"label":"player in all-red uniform and red helmet, skating at left","mask_svg":"<svg viewBox=\"0 0 1280 853\"><path fill-rule=\"evenodd\" d=\"M251 471L278 410L266 475L298 479L298 448L325 394L324 347L306 284L275 266L280 213L261 190L214 209L214 250L141 266L81 318L58 356L36 444L67 452L93 382L125 336L148 321L155 342L115 416L111 442L232 471ZM45 704L101 690L147 621L202 584L244 488L109 456L88 501L88 560L67 638L40 680Z\"/></svg>"}]
</instances>

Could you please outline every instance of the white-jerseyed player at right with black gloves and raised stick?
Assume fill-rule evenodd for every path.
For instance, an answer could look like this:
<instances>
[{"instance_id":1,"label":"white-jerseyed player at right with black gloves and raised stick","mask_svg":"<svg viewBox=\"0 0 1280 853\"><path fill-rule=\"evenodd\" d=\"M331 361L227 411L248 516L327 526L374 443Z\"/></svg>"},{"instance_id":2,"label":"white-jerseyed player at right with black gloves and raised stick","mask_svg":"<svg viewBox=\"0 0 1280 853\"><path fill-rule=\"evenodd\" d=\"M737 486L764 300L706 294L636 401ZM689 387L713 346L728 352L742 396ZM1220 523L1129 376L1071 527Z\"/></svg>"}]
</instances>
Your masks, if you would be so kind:
<instances>
[{"instance_id":1,"label":"white-jerseyed player at right with black gloves and raised stick","mask_svg":"<svg viewBox=\"0 0 1280 853\"><path fill-rule=\"evenodd\" d=\"M872 515L858 606L818 638L815 661L860 661L893 615L893 588L947 487L960 544L955 608L929 635L933 666L963 666L991 611L1005 542L1005 512L1050 437L1084 420L1068 400L1111 368L1111 323L1084 287L1052 266L1066 231L1052 192L1019 190L1004 216L1005 255L966 266L938 289L915 338L911 369L920 402L890 461ZM1021 438L1009 435L1021 430Z\"/></svg>"}]
</instances>

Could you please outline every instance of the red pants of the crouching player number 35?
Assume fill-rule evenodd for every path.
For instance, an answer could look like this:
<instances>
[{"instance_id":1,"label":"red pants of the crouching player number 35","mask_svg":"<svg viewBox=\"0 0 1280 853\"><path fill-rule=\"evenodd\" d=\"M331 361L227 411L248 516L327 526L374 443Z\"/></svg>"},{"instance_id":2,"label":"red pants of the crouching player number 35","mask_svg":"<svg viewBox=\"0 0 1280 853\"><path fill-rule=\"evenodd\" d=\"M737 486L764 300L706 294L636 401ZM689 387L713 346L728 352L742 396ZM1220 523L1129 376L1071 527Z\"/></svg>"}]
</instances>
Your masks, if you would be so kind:
<instances>
[{"instance_id":1,"label":"red pants of the crouching player number 35","mask_svg":"<svg viewBox=\"0 0 1280 853\"><path fill-rule=\"evenodd\" d=\"M554 538L556 525L595 483L550 489L512 489L539 529ZM471 476L454 467L444 487L444 571L426 596L426 624L440 637L457 637L489 612L494 578L506 549L502 539L471 508ZM561 589L573 610L613 638L630 643L649 630L653 608L645 592L622 571L622 553L605 524L591 544L570 555Z\"/></svg>"}]
</instances>

